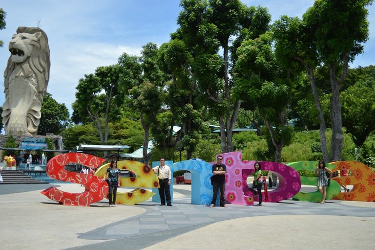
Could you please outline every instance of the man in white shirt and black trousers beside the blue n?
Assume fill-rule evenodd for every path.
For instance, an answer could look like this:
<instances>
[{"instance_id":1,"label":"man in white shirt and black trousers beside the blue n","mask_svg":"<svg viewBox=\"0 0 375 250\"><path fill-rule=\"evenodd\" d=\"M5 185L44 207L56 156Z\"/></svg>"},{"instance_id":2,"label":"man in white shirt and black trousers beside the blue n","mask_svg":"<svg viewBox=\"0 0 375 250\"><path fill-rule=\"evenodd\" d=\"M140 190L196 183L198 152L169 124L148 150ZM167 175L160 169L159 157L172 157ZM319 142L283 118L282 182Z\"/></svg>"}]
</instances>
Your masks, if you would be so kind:
<instances>
[{"instance_id":1,"label":"man in white shirt and black trousers beside the blue n","mask_svg":"<svg viewBox=\"0 0 375 250\"><path fill-rule=\"evenodd\" d=\"M171 180L171 174L170 174L170 167L166 165L166 161L164 158L160 158L159 160L160 165L154 167L152 170L155 174L158 175L159 179L159 195L160 195L160 205L164 206L167 205L172 206L170 201L170 191L169 191L169 185Z\"/></svg>"}]
</instances>

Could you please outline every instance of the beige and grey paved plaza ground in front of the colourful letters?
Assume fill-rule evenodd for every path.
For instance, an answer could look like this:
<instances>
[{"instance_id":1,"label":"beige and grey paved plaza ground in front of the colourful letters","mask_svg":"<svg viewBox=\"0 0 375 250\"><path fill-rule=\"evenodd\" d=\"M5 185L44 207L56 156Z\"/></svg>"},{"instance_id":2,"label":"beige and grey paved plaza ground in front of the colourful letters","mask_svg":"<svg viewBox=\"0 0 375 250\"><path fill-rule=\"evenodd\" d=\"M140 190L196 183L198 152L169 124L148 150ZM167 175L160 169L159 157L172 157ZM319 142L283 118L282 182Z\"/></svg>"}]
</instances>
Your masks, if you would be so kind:
<instances>
[{"instance_id":1,"label":"beige and grey paved plaza ground in front of the colourful letters","mask_svg":"<svg viewBox=\"0 0 375 250\"><path fill-rule=\"evenodd\" d=\"M182 184L174 185L172 207L150 200L113 208L105 200L71 207L40 193L49 186L0 186L0 250L375 248L374 203L288 200L209 208L189 204L191 186ZM54 186L83 191L77 184Z\"/></svg>"}]
</instances>

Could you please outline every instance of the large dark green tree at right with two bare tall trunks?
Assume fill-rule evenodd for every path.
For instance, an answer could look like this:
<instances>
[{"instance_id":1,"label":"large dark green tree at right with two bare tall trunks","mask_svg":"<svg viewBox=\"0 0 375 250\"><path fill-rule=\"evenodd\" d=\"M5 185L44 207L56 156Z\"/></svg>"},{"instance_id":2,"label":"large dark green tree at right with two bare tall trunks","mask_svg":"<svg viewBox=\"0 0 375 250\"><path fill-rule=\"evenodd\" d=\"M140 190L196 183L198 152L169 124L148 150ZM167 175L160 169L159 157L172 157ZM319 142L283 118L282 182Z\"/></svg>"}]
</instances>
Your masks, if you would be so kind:
<instances>
[{"instance_id":1,"label":"large dark green tree at right with two bare tall trunks","mask_svg":"<svg viewBox=\"0 0 375 250\"><path fill-rule=\"evenodd\" d=\"M342 154L342 116L340 88L348 72L349 62L363 51L369 36L366 6L372 0L320 0L303 15L303 19L283 16L275 22L276 54L283 65L301 64L310 78L315 105L320 117L323 158L340 160ZM325 137L326 122L316 88L314 71L317 66L328 68L331 85L330 119L332 124L331 157Z\"/></svg>"}]
</instances>

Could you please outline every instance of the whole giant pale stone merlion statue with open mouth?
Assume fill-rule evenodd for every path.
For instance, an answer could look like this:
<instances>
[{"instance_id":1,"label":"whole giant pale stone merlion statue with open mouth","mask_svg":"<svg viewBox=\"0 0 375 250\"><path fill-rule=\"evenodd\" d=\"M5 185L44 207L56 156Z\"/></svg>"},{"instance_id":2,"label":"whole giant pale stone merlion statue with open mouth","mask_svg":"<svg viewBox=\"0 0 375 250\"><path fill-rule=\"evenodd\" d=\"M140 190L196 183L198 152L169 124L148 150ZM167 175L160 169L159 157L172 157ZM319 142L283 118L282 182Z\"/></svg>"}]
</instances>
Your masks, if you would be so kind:
<instances>
[{"instance_id":1,"label":"whole giant pale stone merlion statue with open mouth","mask_svg":"<svg viewBox=\"0 0 375 250\"><path fill-rule=\"evenodd\" d=\"M35 136L51 66L47 36L40 28L19 27L9 51L2 106L5 134Z\"/></svg>"}]
</instances>

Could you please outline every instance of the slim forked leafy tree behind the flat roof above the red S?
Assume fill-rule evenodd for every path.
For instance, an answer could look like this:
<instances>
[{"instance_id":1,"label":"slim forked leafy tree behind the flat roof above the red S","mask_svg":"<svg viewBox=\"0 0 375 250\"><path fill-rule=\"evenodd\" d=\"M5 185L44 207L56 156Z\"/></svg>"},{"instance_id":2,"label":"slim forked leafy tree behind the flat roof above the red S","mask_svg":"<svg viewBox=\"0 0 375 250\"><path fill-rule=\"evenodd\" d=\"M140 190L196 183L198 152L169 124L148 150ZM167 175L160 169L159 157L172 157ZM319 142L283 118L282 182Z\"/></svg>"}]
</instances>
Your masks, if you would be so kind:
<instances>
[{"instance_id":1,"label":"slim forked leafy tree behind the flat roof above the red S","mask_svg":"<svg viewBox=\"0 0 375 250\"><path fill-rule=\"evenodd\" d=\"M73 121L91 120L104 145L108 140L109 118L119 118L119 107L124 102L119 73L120 67L112 65L97 68L95 74L84 75L76 87L76 101L72 105Z\"/></svg>"}]
</instances>

